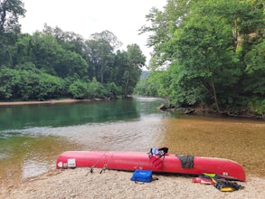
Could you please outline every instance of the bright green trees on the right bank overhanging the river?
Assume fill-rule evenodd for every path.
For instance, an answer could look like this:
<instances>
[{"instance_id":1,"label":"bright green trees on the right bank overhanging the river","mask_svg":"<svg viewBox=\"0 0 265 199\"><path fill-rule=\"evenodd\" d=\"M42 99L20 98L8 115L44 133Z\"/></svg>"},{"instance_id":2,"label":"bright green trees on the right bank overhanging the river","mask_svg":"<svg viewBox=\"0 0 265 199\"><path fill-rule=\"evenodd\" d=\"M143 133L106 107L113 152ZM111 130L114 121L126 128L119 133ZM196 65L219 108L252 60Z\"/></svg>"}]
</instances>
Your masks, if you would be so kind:
<instances>
[{"instance_id":1,"label":"bright green trees on the right bank overhanging the river","mask_svg":"<svg viewBox=\"0 0 265 199\"><path fill-rule=\"evenodd\" d=\"M150 76L138 94L175 108L265 117L265 3L167 0L147 14Z\"/></svg>"}]
</instances>

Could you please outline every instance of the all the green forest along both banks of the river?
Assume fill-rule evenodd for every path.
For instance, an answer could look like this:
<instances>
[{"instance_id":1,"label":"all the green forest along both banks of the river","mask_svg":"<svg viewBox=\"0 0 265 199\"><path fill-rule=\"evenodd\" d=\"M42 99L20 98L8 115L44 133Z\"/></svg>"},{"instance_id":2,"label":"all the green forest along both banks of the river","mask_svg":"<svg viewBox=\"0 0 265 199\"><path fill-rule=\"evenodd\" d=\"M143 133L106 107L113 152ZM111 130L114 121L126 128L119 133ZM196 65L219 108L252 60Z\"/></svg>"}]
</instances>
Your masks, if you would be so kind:
<instances>
[{"instance_id":1,"label":"all the green forest along both banks of the river","mask_svg":"<svg viewBox=\"0 0 265 199\"><path fill-rule=\"evenodd\" d=\"M139 33L153 49L108 30L84 39L43 25L21 33L20 0L0 0L0 100L163 97L175 108L265 117L265 3L260 0L167 0ZM140 80L140 81L139 81Z\"/></svg>"}]
</instances>

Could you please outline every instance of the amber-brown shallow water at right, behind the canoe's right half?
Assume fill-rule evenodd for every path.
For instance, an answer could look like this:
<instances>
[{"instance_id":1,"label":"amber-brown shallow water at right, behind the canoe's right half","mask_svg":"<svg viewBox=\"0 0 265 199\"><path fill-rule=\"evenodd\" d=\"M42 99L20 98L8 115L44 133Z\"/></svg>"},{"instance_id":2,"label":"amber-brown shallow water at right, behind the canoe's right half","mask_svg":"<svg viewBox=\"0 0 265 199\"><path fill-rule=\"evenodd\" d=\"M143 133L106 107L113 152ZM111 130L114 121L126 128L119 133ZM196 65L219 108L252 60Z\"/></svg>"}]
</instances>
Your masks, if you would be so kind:
<instances>
[{"instance_id":1,"label":"amber-brown shallow water at right, behind the canoe's right half","mask_svg":"<svg viewBox=\"0 0 265 199\"><path fill-rule=\"evenodd\" d=\"M228 118L166 118L164 143L174 153L218 156L240 163L247 175L265 176L265 123Z\"/></svg>"}]
</instances>

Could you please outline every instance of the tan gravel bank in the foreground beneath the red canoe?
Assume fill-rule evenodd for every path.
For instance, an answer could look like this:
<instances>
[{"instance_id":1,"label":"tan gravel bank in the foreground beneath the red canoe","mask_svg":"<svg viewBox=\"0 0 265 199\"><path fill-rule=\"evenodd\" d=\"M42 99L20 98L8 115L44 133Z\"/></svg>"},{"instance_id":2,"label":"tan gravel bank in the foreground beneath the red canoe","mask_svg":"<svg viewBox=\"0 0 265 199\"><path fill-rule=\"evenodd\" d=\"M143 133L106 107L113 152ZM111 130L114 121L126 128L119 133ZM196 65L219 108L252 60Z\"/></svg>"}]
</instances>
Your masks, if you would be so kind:
<instances>
[{"instance_id":1,"label":"tan gravel bank in the foreground beneath the red canoe","mask_svg":"<svg viewBox=\"0 0 265 199\"><path fill-rule=\"evenodd\" d=\"M132 172L95 168L53 169L24 179L19 185L2 187L0 198L265 198L265 178L248 176L238 182L245 188L224 193L213 185L192 183L189 175L158 175L143 185L130 180Z\"/></svg>"}]
</instances>

